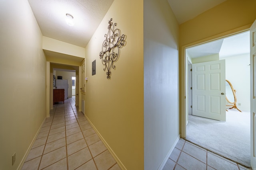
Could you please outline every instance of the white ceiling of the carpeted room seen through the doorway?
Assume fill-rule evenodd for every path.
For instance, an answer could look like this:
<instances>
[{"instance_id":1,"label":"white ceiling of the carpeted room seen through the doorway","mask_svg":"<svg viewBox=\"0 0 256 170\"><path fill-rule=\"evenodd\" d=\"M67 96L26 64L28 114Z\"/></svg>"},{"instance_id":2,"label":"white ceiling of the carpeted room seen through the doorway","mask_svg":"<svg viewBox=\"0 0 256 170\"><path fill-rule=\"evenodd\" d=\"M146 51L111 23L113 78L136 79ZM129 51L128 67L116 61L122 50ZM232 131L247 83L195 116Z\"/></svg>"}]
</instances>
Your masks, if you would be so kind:
<instances>
[{"instance_id":1,"label":"white ceiling of the carpeted room seen through the doorway","mask_svg":"<svg viewBox=\"0 0 256 170\"><path fill-rule=\"evenodd\" d=\"M186 49L191 58L219 54L220 58L250 53L250 32Z\"/></svg>"}]
</instances>

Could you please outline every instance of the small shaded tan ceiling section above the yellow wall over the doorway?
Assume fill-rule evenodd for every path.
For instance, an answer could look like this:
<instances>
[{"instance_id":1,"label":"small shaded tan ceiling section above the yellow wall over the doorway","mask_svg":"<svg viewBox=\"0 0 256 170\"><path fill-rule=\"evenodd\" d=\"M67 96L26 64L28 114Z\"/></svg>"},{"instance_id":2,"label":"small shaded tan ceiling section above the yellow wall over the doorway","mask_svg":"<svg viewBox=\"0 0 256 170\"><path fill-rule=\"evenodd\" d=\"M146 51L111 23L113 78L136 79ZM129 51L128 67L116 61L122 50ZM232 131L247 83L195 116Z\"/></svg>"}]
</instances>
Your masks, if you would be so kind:
<instances>
[{"instance_id":1,"label":"small shaded tan ceiling section above the yellow wall over the doorway","mask_svg":"<svg viewBox=\"0 0 256 170\"><path fill-rule=\"evenodd\" d=\"M179 24L225 2L226 0L168 0Z\"/></svg>"}]
</instances>

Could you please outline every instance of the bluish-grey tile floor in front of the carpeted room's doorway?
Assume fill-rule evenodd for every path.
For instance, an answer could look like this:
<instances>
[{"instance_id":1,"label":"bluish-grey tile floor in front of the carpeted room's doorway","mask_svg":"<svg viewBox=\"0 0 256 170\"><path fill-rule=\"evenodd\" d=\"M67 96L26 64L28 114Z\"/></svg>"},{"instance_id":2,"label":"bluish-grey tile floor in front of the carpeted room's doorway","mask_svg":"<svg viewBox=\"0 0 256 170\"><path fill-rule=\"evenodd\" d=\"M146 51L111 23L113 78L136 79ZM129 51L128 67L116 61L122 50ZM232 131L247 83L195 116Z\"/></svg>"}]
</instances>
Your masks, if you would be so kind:
<instances>
[{"instance_id":1,"label":"bluish-grey tile floor in front of the carpeted room's doorway","mask_svg":"<svg viewBox=\"0 0 256 170\"><path fill-rule=\"evenodd\" d=\"M163 170L248 170L248 168L180 139Z\"/></svg>"}]
</instances>

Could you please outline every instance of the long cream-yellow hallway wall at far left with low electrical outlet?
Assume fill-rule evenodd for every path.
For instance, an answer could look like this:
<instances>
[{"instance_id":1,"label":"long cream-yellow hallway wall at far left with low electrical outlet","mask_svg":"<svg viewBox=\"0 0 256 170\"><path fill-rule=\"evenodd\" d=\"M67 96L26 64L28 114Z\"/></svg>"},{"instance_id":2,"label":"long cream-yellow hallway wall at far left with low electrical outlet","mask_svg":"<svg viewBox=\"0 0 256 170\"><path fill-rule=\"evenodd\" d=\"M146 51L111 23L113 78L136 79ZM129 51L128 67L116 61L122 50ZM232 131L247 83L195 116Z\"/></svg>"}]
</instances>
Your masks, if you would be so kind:
<instances>
[{"instance_id":1,"label":"long cream-yellow hallway wall at far left with low electrical outlet","mask_svg":"<svg viewBox=\"0 0 256 170\"><path fill-rule=\"evenodd\" d=\"M46 59L27 0L0 1L0 15L0 169L16 170L46 117Z\"/></svg>"}]
</instances>

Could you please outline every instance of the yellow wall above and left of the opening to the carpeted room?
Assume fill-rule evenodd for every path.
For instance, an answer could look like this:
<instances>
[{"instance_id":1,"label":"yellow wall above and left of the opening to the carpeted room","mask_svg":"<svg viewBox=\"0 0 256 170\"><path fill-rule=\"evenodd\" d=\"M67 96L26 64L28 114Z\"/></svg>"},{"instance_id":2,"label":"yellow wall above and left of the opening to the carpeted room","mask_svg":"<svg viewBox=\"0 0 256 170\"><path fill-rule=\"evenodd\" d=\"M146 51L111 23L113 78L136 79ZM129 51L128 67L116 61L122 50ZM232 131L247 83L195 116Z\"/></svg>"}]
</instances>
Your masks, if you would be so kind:
<instances>
[{"instance_id":1,"label":"yellow wall above and left of the opening to the carpeted room","mask_svg":"<svg viewBox=\"0 0 256 170\"><path fill-rule=\"evenodd\" d=\"M255 0L227 0L180 25L180 115L185 137L185 49L248 29L256 19Z\"/></svg>"}]
</instances>

